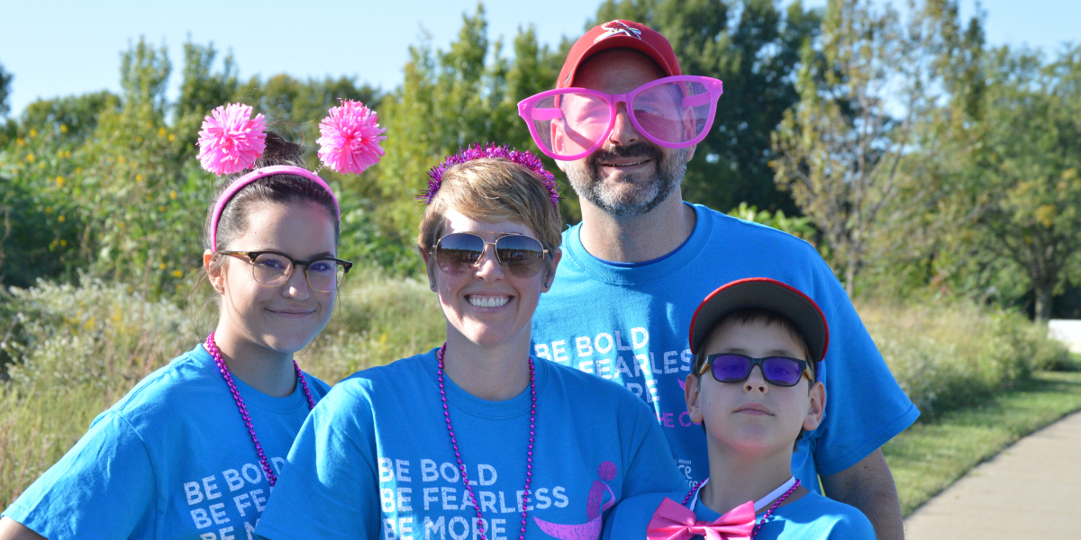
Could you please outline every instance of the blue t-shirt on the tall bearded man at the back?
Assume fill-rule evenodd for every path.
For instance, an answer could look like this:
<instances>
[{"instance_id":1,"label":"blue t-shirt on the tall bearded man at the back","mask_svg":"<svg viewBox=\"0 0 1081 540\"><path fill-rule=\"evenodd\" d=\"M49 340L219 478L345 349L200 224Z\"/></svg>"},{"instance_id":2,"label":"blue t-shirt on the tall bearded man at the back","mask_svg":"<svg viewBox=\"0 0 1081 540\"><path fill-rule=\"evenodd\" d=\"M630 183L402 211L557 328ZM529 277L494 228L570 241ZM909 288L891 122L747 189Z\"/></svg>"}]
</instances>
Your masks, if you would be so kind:
<instances>
[{"instance_id":1,"label":"blue t-shirt on the tall bearded man at the back","mask_svg":"<svg viewBox=\"0 0 1081 540\"><path fill-rule=\"evenodd\" d=\"M698 303L743 278L773 278L813 298L829 325L819 364L826 416L792 455L792 471L819 489L817 474L852 467L911 424L919 410L897 386L848 295L818 253L775 229L692 206L697 224L670 256L619 267L590 255L579 226L563 233L563 258L533 316L537 357L623 383L648 403L690 485L709 471L702 427L691 422L683 383L693 356L688 332Z\"/></svg>"}]
</instances>

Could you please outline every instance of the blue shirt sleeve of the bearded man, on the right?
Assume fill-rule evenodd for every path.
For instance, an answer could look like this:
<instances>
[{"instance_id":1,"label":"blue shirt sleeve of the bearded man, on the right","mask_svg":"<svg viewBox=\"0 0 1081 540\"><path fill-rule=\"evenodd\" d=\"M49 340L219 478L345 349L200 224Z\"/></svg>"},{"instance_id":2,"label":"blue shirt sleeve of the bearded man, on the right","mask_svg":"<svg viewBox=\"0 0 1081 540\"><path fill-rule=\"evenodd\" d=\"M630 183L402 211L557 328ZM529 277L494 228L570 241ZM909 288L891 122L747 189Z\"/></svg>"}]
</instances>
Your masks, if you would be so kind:
<instances>
[{"instance_id":1,"label":"blue shirt sleeve of the bearded man, on the right","mask_svg":"<svg viewBox=\"0 0 1081 540\"><path fill-rule=\"evenodd\" d=\"M811 436L818 474L839 473L916 421L920 411L897 384L832 271L818 267L815 299L829 325L820 364L826 415Z\"/></svg>"}]
</instances>

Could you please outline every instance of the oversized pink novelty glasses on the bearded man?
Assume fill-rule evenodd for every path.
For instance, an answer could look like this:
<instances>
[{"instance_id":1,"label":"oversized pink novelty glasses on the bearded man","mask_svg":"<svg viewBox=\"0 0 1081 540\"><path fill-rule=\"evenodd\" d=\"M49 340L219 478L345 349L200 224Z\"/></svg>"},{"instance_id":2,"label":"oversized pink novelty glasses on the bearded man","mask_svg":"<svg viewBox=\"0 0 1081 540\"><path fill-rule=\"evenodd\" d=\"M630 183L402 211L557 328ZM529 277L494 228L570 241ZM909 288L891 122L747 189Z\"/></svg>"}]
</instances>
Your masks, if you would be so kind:
<instances>
[{"instance_id":1,"label":"oversized pink novelty glasses on the bearded man","mask_svg":"<svg viewBox=\"0 0 1081 540\"><path fill-rule=\"evenodd\" d=\"M653 86L658 86L660 84L669 82L698 82L705 85L706 90L709 93L710 107L709 107L709 117L706 119L706 125L703 127L702 133L699 133L696 137L685 143L676 143L676 144L667 143L646 133L645 130L643 130L642 126L638 123L638 119L635 118L633 107L630 105L633 104L635 97L638 96L638 94L640 94L641 92L650 90ZM709 135L709 130L713 126L713 118L717 113L717 102L721 98L721 95L723 93L724 93L723 82L721 82L719 79L694 76L694 75L678 75L672 77L662 77L660 79L650 81L645 84L642 84L641 86L638 86L635 90L631 90L630 92L626 92L623 94L609 94L606 92L601 92L598 90L578 89L573 86L565 89L548 90L539 94L526 97L521 102L518 102L518 116L525 121L526 126L530 129L530 135L533 136L533 144L535 144L537 148L542 152L544 152L545 156L548 156L549 158L559 161L574 161L593 153L595 151L597 151L598 148L604 145L604 141L608 140L609 135L612 134L612 130L615 129L615 119L617 113L616 105L620 103L627 106L627 118L630 120L631 125L633 125L635 129L638 130L638 133L640 133L643 137L645 137L646 140L655 145L663 146L665 148L688 148L697 145L704 138L706 138L706 135ZM597 143L595 143L593 146L590 147L588 150L573 156L560 156L557 154L555 150L552 151L547 150L545 148L545 145L538 143L540 138L537 136L536 124L533 122L533 110L536 107L536 104L542 99L544 99L545 97L561 95L561 94L592 95L604 99L609 105L609 114L611 119L609 120L609 126L608 130L604 131L604 135L602 135L600 139ZM555 120L555 119L548 119L548 120Z\"/></svg>"}]
</instances>

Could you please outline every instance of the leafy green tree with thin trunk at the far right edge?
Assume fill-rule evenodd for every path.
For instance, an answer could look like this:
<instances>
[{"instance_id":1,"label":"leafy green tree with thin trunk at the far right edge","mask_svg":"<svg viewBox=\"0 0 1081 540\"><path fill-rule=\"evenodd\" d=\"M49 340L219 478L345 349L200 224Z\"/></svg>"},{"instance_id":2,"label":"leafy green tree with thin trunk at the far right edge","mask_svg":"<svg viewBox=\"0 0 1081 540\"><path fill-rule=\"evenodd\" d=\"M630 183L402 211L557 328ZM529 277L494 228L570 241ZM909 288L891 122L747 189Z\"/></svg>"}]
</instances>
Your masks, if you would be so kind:
<instances>
[{"instance_id":1,"label":"leafy green tree with thin trunk at the far right edge","mask_svg":"<svg viewBox=\"0 0 1081 540\"><path fill-rule=\"evenodd\" d=\"M972 238L1012 262L1035 295L1081 282L1081 46L1051 63L1006 46L988 55L978 141L956 197Z\"/></svg>"}]
</instances>

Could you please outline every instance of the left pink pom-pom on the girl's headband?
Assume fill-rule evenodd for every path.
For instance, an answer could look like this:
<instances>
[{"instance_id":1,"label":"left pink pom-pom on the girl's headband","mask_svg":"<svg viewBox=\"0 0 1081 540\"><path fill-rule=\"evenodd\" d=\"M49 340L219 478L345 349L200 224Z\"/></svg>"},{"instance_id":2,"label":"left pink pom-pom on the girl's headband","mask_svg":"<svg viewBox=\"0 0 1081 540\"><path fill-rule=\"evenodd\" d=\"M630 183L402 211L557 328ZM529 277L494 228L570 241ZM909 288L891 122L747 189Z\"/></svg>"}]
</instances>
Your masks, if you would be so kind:
<instances>
[{"instance_id":1,"label":"left pink pom-pom on the girl's headband","mask_svg":"<svg viewBox=\"0 0 1081 540\"><path fill-rule=\"evenodd\" d=\"M239 173L255 163L266 150L266 119L251 118L252 108L228 104L211 111L199 131L199 163L218 176Z\"/></svg>"}]
</instances>

